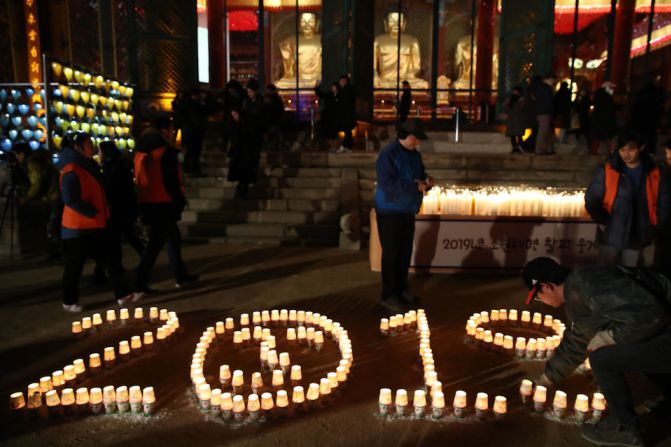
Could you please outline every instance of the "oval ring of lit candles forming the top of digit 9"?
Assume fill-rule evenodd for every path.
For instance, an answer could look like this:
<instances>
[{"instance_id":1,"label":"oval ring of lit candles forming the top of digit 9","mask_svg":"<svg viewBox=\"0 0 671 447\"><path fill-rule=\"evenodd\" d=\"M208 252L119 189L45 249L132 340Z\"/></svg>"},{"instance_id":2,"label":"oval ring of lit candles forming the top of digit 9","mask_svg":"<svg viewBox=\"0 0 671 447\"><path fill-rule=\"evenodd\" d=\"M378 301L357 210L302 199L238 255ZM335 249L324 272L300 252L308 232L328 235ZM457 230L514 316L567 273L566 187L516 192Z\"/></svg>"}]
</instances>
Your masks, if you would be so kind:
<instances>
[{"instance_id":1,"label":"oval ring of lit candles forming the top of digit 9","mask_svg":"<svg viewBox=\"0 0 671 447\"><path fill-rule=\"evenodd\" d=\"M502 332L493 333L485 329L482 325L497 326L516 326L533 328L536 330L545 330L553 333L551 336L529 338L517 337L513 339L511 335L505 335ZM521 318L518 321L518 311L516 309L494 309L491 312L483 311L471 315L466 323L466 334L471 339L483 344L488 349L494 349L501 352L515 351L516 355L527 359L544 359L550 357L554 350L561 343L566 325L554 318L552 315L543 316L539 312L522 311Z\"/></svg>"}]
</instances>

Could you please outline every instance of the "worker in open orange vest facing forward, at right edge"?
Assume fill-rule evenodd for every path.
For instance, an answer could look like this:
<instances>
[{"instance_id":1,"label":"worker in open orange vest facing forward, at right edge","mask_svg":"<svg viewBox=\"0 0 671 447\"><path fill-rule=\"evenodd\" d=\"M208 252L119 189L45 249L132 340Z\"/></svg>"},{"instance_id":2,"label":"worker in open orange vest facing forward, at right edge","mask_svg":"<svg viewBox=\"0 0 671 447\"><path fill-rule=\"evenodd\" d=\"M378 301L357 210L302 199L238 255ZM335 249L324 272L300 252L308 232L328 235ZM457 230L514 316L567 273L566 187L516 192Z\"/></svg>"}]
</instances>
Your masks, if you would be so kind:
<instances>
[{"instance_id":1,"label":"worker in open orange vest facing forward, at right edge","mask_svg":"<svg viewBox=\"0 0 671 447\"><path fill-rule=\"evenodd\" d=\"M585 193L585 207L599 224L599 263L636 267L669 218L671 196L667 175L657 167L640 138L623 133L619 149L596 175Z\"/></svg>"}]
</instances>

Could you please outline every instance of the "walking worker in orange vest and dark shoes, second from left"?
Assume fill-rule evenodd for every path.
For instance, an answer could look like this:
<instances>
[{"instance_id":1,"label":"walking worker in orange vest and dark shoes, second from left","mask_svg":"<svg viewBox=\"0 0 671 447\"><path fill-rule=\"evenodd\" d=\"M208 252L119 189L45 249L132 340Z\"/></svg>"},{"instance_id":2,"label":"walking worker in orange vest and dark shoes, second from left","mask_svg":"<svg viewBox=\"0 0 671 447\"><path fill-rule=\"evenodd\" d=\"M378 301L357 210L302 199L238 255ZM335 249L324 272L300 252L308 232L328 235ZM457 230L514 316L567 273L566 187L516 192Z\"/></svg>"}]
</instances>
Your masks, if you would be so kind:
<instances>
[{"instance_id":1,"label":"walking worker in orange vest and dark shoes, second from left","mask_svg":"<svg viewBox=\"0 0 671 447\"><path fill-rule=\"evenodd\" d=\"M173 141L172 120L156 118L138 140L135 152L135 184L140 215L148 228L148 241L135 277L135 291L142 296L154 292L149 276L163 245L167 243L168 259L175 275L175 287L198 280L186 271L182 260L182 236L177 222L186 206L179 150Z\"/></svg>"}]
</instances>

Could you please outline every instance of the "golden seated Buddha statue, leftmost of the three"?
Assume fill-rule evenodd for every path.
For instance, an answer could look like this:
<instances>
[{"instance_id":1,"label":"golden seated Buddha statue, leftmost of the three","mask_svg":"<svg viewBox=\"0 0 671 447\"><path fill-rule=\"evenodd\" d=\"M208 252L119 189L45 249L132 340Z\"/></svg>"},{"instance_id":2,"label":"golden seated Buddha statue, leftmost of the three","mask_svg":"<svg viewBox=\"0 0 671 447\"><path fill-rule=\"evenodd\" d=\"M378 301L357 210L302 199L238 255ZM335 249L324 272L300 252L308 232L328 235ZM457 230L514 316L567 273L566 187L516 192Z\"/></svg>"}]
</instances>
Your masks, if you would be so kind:
<instances>
[{"instance_id":1,"label":"golden seated Buddha statue, leftmost of the three","mask_svg":"<svg viewBox=\"0 0 671 447\"><path fill-rule=\"evenodd\" d=\"M322 36L317 34L317 16L311 12L300 15L298 35L298 69L296 69L296 38L283 40L279 47L283 75L275 81L278 88L313 88L322 76Z\"/></svg>"}]
</instances>

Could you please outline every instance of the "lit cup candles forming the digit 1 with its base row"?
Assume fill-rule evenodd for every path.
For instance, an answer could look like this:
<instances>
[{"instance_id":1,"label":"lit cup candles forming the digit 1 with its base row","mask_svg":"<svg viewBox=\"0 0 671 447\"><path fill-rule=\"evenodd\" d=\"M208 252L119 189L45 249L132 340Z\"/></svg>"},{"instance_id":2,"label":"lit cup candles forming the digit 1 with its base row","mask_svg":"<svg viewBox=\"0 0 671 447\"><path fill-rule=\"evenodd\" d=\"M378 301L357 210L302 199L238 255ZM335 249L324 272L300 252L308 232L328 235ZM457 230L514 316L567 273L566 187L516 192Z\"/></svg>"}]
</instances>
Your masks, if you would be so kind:
<instances>
[{"instance_id":1,"label":"lit cup candles forming the digit 1 with its base row","mask_svg":"<svg viewBox=\"0 0 671 447\"><path fill-rule=\"evenodd\" d=\"M441 420L445 417L445 395L442 383L438 380L433 350L431 349L431 329L423 309L410 311L406 314L393 315L380 321L380 331L386 336L396 336L404 332L416 332L419 338L419 359L423 367L424 387L413 393L412 409L409 407L408 392L404 389L396 390L395 397L389 388L380 389L379 415L392 419L431 419ZM428 411L427 397L431 402L431 411ZM458 390L453 401L454 417L463 418L467 412L467 395ZM494 399L493 412L495 417L506 414L507 402L503 396ZM487 393L478 393L475 402L475 415L486 418L489 412L489 396ZM430 414L429 414L430 413Z\"/></svg>"}]
</instances>

